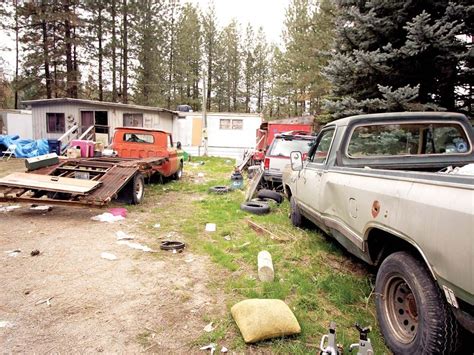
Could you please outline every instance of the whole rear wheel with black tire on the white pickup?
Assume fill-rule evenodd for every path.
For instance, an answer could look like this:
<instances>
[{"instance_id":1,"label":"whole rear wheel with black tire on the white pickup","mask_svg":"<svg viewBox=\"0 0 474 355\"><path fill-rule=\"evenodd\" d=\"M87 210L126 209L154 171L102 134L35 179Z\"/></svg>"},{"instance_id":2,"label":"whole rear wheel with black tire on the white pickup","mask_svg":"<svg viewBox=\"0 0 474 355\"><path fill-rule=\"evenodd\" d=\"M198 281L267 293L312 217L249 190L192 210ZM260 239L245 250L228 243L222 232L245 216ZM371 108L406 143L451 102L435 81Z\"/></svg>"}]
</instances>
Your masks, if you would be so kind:
<instances>
[{"instance_id":1,"label":"whole rear wheel with black tire on the white pickup","mask_svg":"<svg viewBox=\"0 0 474 355\"><path fill-rule=\"evenodd\" d=\"M388 256L375 281L377 318L394 354L451 354L458 324L425 265L407 252Z\"/></svg>"}]
</instances>

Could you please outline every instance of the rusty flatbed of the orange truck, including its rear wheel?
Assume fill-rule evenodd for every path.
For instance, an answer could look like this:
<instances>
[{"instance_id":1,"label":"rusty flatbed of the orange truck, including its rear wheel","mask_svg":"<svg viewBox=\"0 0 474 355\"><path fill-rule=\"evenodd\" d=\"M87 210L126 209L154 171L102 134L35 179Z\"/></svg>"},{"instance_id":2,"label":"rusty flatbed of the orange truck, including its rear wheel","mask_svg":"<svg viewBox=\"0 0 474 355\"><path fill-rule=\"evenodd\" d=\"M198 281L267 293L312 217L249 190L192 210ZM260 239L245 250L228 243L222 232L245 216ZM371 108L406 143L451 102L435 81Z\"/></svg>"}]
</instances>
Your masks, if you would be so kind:
<instances>
[{"instance_id":1,"label":"rusty flatbed of the orange truck, including its rear wheel","mask_svg":"<svg viewBox=\"0 0 474 355\"><path fill-rule=\"evenodd\" d=\"M167 158L67 159L0 179L0 201L89 205L101 207L116 198L140 203L144 179L151 178Z\"/></svg>"}]
</instances>

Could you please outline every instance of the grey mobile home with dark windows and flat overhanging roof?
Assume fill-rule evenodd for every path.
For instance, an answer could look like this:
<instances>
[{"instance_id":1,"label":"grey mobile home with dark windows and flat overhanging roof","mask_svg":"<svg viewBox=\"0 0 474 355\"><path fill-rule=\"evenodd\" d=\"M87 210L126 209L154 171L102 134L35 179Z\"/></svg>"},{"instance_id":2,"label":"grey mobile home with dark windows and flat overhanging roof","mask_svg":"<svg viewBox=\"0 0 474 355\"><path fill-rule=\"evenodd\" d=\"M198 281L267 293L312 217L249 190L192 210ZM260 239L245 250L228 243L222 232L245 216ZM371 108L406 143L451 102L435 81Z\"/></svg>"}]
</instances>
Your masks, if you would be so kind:
<instances>
[{"instance_id":1,"label":"grey mobile home with dark windows and flat overhanging roof","mask_svg":"<svg viewBox=\"0 0 474 355\"><path fill-rule=\"evenodd\" d=\"M31 107L33 138L58 139L74 125L80 132L94 126L96 136L110 141L116 127L145 127L173 132L177 112L158 107L58 98L23 101Z\"/></svg>"}]
</instances>

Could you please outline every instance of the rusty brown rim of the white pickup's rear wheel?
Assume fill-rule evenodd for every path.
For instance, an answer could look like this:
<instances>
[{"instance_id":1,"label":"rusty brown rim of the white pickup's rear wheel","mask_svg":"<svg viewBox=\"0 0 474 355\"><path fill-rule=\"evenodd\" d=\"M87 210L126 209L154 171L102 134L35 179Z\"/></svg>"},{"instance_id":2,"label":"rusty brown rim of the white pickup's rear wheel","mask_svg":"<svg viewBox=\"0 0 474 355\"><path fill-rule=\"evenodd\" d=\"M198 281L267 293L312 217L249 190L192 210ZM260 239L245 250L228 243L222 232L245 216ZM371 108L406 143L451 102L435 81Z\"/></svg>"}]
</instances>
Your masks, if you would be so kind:
<instances>
[{"instance_id":1,"label":"rusty brown rim of the white pickup's rear wheel","mask_svg":"<svg viewBox=\"0 0 474 355\"><path fill-rule=\"evenodd\" d=\"M412 342L418 330L418 306L410 286L400 277L392 277L385 288L385 312L395 337Z\"/></svg>"}]
</instances>

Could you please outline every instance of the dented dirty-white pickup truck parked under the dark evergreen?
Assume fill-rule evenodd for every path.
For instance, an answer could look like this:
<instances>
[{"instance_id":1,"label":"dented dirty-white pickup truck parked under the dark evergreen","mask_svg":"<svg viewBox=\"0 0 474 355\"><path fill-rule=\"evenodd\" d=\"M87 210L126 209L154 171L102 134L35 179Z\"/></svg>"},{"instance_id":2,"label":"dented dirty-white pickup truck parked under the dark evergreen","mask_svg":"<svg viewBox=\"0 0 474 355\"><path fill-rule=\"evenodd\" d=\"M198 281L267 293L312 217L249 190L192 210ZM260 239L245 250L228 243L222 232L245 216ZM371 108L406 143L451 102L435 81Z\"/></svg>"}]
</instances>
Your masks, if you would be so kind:
<instances>
[{"instance_id":1,"label":"dented dirty-white pickup truck parked under the dark evergreen","mask_svg":"<svg viewBox=\"0 0 474 355\"><path fill-rule=\"evenodd\" d=\"M455 113L361 115L327 124L283 175L308 219L378 267L377 317L395 354L453 353L474 333L474 133ZM449 169L453 170L453 169Z\"/></svg>"}]
</instances>

